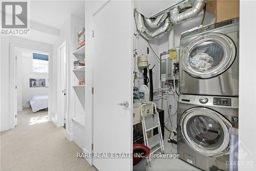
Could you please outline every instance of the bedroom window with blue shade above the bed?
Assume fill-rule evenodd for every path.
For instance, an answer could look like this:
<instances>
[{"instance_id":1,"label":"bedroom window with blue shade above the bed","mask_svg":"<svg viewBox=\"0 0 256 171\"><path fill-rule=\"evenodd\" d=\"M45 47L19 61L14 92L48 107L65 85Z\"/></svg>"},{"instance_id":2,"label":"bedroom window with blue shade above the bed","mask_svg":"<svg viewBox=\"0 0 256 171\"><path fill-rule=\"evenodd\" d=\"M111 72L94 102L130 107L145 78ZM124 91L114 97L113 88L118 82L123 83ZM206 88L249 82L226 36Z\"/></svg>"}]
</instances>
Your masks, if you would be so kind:
<instances>
[{"instance_id":1,"label":"bedroom window with blue shade above the bed","mask_svg":"<svg viewBox=\"0 0 256 171\"><path fill-rule=\"evenodd\" d=\"M48 55L33 53L33 72L48 73L48 60Z\"/></svg>"}]
</instances>

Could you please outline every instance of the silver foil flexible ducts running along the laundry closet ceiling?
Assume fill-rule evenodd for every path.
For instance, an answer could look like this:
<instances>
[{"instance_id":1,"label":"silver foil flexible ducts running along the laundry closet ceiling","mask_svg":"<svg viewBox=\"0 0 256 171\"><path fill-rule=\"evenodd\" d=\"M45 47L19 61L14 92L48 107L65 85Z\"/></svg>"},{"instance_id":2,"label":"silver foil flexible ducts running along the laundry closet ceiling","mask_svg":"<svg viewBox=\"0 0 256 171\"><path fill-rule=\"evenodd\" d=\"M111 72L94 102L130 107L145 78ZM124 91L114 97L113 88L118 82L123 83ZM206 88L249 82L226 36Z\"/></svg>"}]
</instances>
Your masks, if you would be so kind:
<instances>
[{"instance_id":1,"label":"silver foil flexible ducts running along the laundry closet ceiling","mask_svg":"<svg viewBox=\"0 0 256 171\"><path fill-rule=\"evenodd\" d=\"M154 18L146 18L134 9L137 31L147 40L157 38L161 34L168 32L171 24L180 24L196 17L203 10L204 6L205 0L188 0L182 4L177 4L176 7L161 12L159 15L154 16Z\"/></svg>"}]
</instances>

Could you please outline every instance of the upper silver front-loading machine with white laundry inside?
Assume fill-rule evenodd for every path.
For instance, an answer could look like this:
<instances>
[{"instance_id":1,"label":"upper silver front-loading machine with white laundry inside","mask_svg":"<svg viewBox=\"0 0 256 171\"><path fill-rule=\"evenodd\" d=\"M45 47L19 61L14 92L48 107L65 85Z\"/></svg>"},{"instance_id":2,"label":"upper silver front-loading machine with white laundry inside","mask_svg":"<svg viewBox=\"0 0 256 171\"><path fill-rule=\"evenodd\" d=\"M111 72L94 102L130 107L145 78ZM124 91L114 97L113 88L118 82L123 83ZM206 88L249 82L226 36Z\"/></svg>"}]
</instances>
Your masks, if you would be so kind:
<instances>
[{"instance_id":1,"label":"upper silver front-loading machine with white laundry inside","mask_svg":"<svg viewBox=\"0 0 256 171\"><path fill-rule=\"evenodd\" d=\"M179 61L181 94L238 96L239 19L182 33Z\"/></svg>"}]
</instances>

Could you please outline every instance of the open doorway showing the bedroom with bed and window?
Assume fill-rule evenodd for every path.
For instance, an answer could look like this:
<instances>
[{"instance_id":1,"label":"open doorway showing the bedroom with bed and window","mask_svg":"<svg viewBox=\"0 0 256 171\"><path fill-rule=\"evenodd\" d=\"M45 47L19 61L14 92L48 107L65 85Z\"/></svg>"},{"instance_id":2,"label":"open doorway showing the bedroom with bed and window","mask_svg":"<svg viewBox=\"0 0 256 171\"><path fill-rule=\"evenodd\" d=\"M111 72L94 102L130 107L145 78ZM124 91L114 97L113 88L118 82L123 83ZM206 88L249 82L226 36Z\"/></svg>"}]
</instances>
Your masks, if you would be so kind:
<instances>
[{"instance_id":1,"label":"open doorway showing the bedroom with bed and window","mask_svg":"<svg viewBox=\"0 0 256 171\"><path fill-rule=\"evenodd\" d=\"M49 53L23 48L15 48L14 53L15 126L19 124L19 116L27 118L29 125L46 122L49 120Z\"/></svg>"}]
</instances>

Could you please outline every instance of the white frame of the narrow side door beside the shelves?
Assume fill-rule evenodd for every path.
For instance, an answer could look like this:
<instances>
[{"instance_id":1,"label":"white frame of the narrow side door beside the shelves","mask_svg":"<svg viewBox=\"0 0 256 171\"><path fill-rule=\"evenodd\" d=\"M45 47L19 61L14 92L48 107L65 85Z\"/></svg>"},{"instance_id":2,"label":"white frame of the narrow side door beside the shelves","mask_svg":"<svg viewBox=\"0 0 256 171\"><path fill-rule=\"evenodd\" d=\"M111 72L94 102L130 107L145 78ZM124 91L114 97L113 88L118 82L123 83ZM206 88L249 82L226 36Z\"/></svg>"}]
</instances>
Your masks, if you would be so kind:
<instances>
[{"instance_id":1,"label":"white frame of the narrow side door beside the shelves","mask_svg":"<svg viewBox=\"0 0 256 171\"><path fill-rule=\"evenodd\" d=\"M57 98L56 98L56 102L57 102L57 120L56 120L56 126L64 126L64 116L61 114L61 98L62 98L62 93L61 93L61 54L60 54L60 50L65 47L66 44L66 40L63 41L57 48ZM66 59L67 59L67 46L66 46ZM67 60L66 60L67 61ZM67 64L68 62L66 62L66 93L67 93ZM65 107L65 111L66 111L66 118L67 118L67 96L66 96L66 107Z\"/></svg>"}]
</instances>

